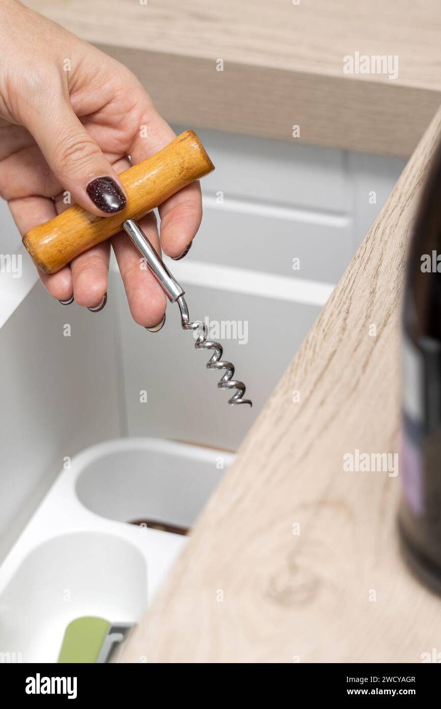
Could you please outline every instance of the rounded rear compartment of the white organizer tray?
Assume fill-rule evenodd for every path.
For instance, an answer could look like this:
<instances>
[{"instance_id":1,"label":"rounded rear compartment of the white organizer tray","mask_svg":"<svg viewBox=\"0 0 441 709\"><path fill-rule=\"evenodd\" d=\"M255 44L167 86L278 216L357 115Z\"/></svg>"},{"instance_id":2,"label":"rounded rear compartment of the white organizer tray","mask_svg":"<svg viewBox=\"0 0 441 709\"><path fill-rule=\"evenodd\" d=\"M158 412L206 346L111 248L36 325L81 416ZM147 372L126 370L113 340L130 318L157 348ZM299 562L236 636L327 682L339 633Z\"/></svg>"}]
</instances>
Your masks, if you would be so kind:
<instances>
[{"instance_id":1,"label":"rounded rear compartment of the white organizer tray","mask_svg":"<svg viewBox=\"0 0 441 709\"><path fill-rule=\"evenodd\" d=\"M102 517L120 522L150 520L154 525L191 527L224 470L217 452L194 457L185 445L127 447L113 445L88 462L76 482L81 503ZM156 526L156 528L159 528Z\"/></svg>"}]
</instances>

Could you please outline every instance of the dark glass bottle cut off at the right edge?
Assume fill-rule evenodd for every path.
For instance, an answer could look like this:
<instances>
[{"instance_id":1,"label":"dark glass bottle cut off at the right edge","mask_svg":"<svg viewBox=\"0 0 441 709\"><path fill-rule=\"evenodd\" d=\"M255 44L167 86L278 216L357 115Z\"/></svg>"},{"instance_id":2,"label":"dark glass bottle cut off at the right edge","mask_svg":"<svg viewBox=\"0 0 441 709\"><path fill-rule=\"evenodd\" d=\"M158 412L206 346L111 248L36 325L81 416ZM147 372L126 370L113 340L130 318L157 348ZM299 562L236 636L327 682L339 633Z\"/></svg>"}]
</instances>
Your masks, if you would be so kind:
<instances>
[{"instance_id":1,"label":"dark glass bottle cut off at the right edge","mask_svg":"<svg viewBox=\"0 0 441 709\"><path fill-rule=\"evenodd\" d=\"M408 254L399 527L408 562L441 591L441 145Z\"/></svg>"}]
</instances>

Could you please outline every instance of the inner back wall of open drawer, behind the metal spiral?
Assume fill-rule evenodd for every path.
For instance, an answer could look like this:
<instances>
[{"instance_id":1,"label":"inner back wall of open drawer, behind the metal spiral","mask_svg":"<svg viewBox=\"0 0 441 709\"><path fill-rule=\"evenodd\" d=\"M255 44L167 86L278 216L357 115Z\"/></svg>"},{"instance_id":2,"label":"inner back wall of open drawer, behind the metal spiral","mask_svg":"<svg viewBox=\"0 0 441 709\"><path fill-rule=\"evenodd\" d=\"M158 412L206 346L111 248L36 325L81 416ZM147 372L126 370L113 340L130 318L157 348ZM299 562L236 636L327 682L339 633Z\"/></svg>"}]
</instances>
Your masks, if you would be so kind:
<instances>
[{"instance_id":1,"label":"inner back wall of open drawer, behind the metal spiral","mask_svg":"<svg viewBox=\"0 0 441 709\"><path fill-rule=\"evenodd\" d=\"M219 327L222 321L234 320L231 334L236 334L236 325L244 328L246 323L247 338L241 337L243 342L248 340L246 343L239 337L225 337L228 324L219 341L224 359L236 367L235 378L246 384L246 396L253 400L253 408L228 406L228 393L217 389L222 373L206 369L210 352L195 350L193 333L182 330L176 305L168 306L164 328L148 333L132 322L120 279L114 277L112 289L118 290L121 308L128 434L236 450L321 308L185 281L183 286L190 318L208 317ZM238 332L242 335L246 330ZM217 339L214 333L210 335ZM147 391L147 403L139 401L140 391Z\"/></svg>"}]
</instances>

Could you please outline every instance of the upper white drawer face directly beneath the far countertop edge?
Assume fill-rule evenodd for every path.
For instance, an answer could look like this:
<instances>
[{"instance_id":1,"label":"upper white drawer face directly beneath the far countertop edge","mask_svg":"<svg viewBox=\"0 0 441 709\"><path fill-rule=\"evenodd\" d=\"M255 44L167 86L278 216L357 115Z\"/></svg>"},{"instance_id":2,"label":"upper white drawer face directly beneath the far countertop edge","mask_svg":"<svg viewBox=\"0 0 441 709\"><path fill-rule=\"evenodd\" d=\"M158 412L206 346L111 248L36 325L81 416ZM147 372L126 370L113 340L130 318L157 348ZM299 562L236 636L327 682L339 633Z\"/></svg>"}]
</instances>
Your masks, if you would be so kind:
<instances>
[{"instance_id":1,"label":"upper white drawer face directly beneath the far countertop edge","mask_svg":"<svg viewBox=\"0 0 441 709\"><path fill-rule=\"evenodd\" d=\"M175 127L177 133L185 128ZM333 213L348 211L345 152L285 140L197 130L216 169L203 179L205 194L219 191L260 203Z\"/></svg>"}]
</instances>

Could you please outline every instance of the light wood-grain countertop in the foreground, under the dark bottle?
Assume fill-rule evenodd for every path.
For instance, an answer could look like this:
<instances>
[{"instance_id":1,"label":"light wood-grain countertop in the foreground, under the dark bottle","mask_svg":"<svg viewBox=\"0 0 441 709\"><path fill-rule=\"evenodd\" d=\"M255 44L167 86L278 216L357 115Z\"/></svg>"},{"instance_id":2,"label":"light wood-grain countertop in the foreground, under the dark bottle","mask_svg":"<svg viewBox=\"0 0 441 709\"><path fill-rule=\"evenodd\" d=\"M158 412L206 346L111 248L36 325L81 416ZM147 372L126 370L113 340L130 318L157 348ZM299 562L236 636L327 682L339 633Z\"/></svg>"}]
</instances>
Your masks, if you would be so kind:
<instances>
[{"instance_id":1,"label":"light wood-grain countertop in the foreground, under the dark bottle","mask_svg":"<svg viewBox=\"0 0 441 709\"><path fill-rule=\"evenodd\" d=\"M441 650L440 598L399 553L400 474L343 471L348 452L399 450L403 265L440 136L441 111L123 661L420 662Z\"/></svg>"}]
</instances>

